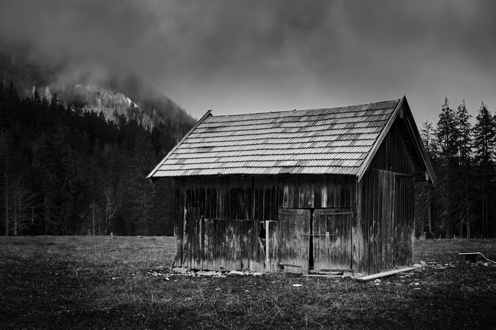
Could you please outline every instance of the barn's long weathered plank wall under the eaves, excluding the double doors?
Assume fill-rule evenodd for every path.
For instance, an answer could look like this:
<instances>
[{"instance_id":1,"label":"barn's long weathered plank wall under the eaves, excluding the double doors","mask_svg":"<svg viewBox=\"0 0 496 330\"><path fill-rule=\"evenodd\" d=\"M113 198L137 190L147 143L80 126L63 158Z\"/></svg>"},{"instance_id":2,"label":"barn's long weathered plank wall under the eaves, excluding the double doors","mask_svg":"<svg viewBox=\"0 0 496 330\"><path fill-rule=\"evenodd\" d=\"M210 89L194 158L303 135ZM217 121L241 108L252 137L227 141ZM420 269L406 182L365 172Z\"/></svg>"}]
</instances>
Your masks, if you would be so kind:
<instances>
[{"instance_id":1,"label":"barn's long weathered plank wall under the eaves, excluding the double doors","mask_svg":"<svg viewBox=\"0 0 496 330\"><path fill-rule=\"evenodd\" d=\"M357 203L352 176L187 177L175 183L175 264L194 269L280 270L280 208Z\"/></svg>"}]
</instances>

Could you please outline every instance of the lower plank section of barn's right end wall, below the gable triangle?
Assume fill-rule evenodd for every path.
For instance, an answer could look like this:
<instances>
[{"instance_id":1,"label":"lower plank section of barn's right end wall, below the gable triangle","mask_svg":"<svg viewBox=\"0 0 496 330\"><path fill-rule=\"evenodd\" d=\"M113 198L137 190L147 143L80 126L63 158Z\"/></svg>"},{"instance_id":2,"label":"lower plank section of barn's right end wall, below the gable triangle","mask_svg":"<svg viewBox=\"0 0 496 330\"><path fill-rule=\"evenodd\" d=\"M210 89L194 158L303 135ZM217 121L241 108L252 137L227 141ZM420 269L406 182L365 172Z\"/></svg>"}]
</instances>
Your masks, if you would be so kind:
<instances>
[{"instance_id":1,"label":"lower plank section of barn's right end wall, below the gable triangle","mask_svg":"<svg viewBox=\"0 0 496 330\"><path fill-rule=\"evenodd\" d=\"M369 169L359 183L353 268L376 273L413 263L414 178Z\"/></svg>"}]
</instances>

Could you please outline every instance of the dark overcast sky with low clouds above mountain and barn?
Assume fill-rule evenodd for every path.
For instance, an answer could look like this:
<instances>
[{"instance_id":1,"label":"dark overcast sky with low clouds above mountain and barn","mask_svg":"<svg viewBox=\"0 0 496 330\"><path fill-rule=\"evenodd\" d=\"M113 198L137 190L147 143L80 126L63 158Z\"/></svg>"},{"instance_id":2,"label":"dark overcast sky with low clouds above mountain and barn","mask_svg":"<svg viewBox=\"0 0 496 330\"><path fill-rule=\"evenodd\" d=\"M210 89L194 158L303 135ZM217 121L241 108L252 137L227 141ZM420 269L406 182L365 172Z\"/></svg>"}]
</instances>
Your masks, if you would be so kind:
<instances>
[{"instance_id":1,"label":"dark overcast sky with low clouds above mountain and barn","mask_svg":"<svg viewBox=\"0 0 496 330\"><path fill-rule=\"evenodd\" d=\"M132 69L199 118L447 95L496 106L496 1L11 0L0 37Z\"/></svg>"}]
</instances>

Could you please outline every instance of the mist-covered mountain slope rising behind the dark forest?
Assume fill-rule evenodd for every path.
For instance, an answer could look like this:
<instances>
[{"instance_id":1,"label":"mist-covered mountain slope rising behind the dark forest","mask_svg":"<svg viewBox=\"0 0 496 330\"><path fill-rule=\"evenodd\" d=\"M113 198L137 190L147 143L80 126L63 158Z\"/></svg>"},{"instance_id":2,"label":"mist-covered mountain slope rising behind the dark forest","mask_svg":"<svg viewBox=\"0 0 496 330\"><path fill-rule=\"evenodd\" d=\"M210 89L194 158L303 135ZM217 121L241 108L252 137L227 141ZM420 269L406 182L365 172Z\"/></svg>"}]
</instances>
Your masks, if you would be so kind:
<instances>
[{"instance_id":1,"label":"mist-covered mountain slope rising behind the dark forest","mask_svg":"<svg viewBox=\"0 0 496 330\"><path fill-rule=\"evenodd\" d=\"M169 97L128 69L76 60L43 61L23 47L0 51L0 81L12 82L19 94L30 96L35 86L43 97L57 94L75 108L104 111L139 119L153 127L165 119L192 126L196 120ZM48 88L48 89L47 89Z\"/></svg>"}]
</instances>

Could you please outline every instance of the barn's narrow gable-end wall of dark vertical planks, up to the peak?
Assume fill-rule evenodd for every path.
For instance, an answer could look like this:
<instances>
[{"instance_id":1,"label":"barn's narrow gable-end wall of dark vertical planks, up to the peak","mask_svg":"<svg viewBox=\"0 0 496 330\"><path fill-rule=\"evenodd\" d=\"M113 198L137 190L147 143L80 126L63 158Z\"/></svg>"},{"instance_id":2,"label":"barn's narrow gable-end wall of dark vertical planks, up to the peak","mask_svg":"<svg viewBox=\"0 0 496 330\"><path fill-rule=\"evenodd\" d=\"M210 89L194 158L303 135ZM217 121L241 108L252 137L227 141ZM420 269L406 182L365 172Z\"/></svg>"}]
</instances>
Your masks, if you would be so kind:
<instances>
[{"instance_id":1,"label":"barn's narrow gable-end wall of dark vertical planks, up to the peak","mask_svg":"<svg viewBox=\"0 0 496 330\"><path fill-rule=\"evenodd\" d=\"M358 184L354 269L361 272L413 263L415 167L400 124L397 119Z\"/></svg>"}]
</instances>

